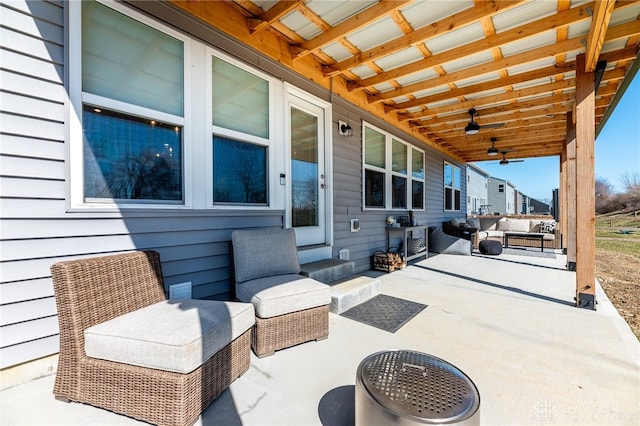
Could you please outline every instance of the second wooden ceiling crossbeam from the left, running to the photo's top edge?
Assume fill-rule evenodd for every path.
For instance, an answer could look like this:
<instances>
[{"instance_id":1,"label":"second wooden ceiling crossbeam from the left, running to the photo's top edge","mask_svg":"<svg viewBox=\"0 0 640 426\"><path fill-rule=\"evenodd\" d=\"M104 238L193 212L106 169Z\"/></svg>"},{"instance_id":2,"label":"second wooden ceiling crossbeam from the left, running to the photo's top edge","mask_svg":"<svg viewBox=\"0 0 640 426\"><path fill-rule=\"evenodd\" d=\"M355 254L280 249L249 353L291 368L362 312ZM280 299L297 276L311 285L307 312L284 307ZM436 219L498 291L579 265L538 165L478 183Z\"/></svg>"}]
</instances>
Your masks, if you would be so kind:
<instances>
[{"instance_id":1,"label":"second wooden ceiling crossbeam from the left, running to the photo's top edge","mask_svg":"<svg viewBox=\"0 0 640 426\"><path fill-rule=\"evenodd\" d=\"M399 9L411 1L413 0L380 1L362 12L355 14L351 18L342 21L335 27L331 27L327 31L320 33L318 36L307 40L300 45L291 46L290 50L293 55L293 59L297 60L303 58L308 54L313 53L315 50L321 49L322 47L335 42L339 38L344 37L346 34L357 31L367 25L371 25L372 22L387 16L389 13Z\"/></svg>"}]
</instances>

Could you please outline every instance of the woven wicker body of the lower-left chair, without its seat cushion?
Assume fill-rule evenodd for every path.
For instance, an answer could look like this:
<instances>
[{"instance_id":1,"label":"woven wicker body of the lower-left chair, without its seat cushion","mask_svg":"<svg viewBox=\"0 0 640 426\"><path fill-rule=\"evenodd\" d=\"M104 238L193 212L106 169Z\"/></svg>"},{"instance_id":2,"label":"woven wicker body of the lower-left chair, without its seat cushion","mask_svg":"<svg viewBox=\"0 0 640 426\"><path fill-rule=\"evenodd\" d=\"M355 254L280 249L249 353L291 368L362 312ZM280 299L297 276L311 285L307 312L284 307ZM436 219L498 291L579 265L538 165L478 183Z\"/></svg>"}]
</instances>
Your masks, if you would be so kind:
<instances>
[{"instance_id":1,"label":"woven wicker body of the lower-left chair, without its seat cushion","mask_svg":"<svg viewBox=\"0 0 640 426\"><path fill-rule=\"evenodd\" d=\"M59 262L51 272L60 325L53 390L57 399L90 404L153 424L191 425L249 368L251 305L248 329L239 331L240 336L188 373L87 356L87 328L159 302L169 303L156 252Z\"/></svg>"}]
</instances>

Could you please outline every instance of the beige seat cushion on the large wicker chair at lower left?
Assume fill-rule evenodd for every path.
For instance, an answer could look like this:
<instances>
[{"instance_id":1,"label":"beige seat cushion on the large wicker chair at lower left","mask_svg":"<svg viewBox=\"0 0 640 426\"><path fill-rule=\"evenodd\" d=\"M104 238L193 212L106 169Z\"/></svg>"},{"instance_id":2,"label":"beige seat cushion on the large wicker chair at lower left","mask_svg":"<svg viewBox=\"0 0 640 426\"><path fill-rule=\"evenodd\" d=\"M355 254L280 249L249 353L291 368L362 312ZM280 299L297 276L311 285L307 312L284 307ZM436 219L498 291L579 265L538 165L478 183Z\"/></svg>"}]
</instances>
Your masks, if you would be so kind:
<instances>
[{"instance_id":1,"label":"beige seat cushion on the large wicker chair at lower left","mask_svg":"<svg viewBox=\"0 0 640 426\"><path fill-rule=\"evenodd\" d=\"M166 300L84 332L92 358L189 373L255 323L249 303Z\"/></svg>"}]
</instances>

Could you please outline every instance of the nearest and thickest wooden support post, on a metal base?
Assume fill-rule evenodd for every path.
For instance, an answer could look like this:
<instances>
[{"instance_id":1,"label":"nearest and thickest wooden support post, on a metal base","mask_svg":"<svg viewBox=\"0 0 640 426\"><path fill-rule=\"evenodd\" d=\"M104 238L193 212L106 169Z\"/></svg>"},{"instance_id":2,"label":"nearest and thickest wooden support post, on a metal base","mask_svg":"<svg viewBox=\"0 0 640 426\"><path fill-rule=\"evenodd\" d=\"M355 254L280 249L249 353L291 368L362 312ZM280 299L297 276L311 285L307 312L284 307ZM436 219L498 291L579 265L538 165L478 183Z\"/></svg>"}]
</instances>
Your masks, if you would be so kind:
<instances>
[{"instance_id":1,"label":"nearest and thickest wooden support post, on a metal base","mask_svg":"<svg viewBox=\"0 0 640 426\"><path fill-rule=\"evenodd\" d=\"M576 58L576 304L596 309L595 286L595 85L585 72L585 56Z\"/></svg>"}]
</instances>

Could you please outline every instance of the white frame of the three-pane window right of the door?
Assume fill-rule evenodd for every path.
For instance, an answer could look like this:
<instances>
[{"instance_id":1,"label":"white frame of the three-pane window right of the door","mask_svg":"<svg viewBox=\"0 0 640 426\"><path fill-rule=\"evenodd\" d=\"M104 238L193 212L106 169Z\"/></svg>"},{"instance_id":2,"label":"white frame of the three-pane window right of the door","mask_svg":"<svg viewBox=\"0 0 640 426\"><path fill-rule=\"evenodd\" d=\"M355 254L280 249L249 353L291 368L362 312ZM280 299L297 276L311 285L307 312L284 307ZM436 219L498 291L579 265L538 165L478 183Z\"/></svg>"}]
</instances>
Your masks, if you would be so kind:
<instances>
[{"instance_id":1,"label":"white frame of the three-pane window right of the door","mask_svg":"<svg viewBox=\"0 0 640 426\"><path fill-rule=\"evenodd\" d=\"M377 166L373 166L373 165L368 165L365 161L366 159L366 140L365 140L365 129L369 128L371 130L375 130L376 132L384 135L385 137L385 167L381 168L381 167L377 167ZM393 141L396 142L400 142L402 144L404 144L407 147L407 173L403 174L400 172L396 172L393 170L393 164L392 164L392 159L393 159ZM393 211L407 211L407 210L413 210L413 211L424 211L426 209L426 202L425 202L425 195L424 192L426 190L425 185L426 185L426 179L423 178L417 178L413 176L413 163L412 163L412 156L413 156L413 150L416 150L420 153L422 153L422 161L423 161L423 170L426 169L426 153L424 150L418 148L415 145L412 145L404 140L402 140L401 138L398 138L394 135L392 135L389 132L386 132L382 129L380 129L379 127L374 126L373 124L370 124L366 121L362 122L362 209L363 210L393 210ZM364 191L364 187L365 187L365 172L366 170L374 170L380 173L384 173L385 175L385 200L384 200L384 207L367 207L366 205L366 192ZM425 175L426 175L426 170L425 170ZM406 200L407 200L407 206L406 207L393 207L393 176L400 176L403 177L407 180L407 185L406 185ZM412 192L412 186L413 186L413 181L418 181L418 182L422 182L422 207L421 208L414 208L413 207L413 192Z\"/></svg>"}]
</instances>

